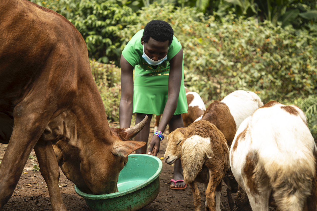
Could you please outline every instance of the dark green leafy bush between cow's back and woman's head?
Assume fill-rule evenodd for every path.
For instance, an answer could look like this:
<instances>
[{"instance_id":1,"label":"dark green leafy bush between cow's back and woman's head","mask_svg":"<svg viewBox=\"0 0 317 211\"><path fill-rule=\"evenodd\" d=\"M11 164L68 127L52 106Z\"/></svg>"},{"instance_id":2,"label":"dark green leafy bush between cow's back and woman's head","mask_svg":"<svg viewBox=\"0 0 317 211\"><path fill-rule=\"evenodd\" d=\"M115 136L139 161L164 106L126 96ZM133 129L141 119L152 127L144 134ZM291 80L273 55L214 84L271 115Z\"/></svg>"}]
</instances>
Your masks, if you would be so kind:
<instances>
[{"instance_id":1,"label":"dark green leafy bush between cow's back and woman's head","mask_svg":"<svg viewBox=\"0 0 317 211\"><path fill-rule=\"evenodd\" d=\"M68 18L83 36L90 58L119 64L122 43L118 34L136 20L131 8L112 0L32 1Z\"/></svg>"}]
</instances>

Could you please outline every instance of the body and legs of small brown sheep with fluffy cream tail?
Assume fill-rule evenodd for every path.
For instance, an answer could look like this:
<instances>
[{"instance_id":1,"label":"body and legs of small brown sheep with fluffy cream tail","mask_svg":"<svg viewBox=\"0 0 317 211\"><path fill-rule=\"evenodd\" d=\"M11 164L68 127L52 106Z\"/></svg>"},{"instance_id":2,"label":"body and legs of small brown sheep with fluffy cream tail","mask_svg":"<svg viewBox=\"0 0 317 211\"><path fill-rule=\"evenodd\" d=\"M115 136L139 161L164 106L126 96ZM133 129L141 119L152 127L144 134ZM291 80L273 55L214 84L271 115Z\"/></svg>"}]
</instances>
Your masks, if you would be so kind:
<instances>
[{"instance_id":1,"label":"body and legs of small brown sheep with fluffy cream tail","mask_svg":"<svg viewBox=\"0 0 317 211\"><path fill-rule=\"evenodd\" d=\"M195 211L201 206L197 182L205 184L206 210L220 211L222 179L229 168L229 148L222 132L210 122L198 120L187 127L180 145L184 182L191 186Z\"/></svg>"}]
</instances>

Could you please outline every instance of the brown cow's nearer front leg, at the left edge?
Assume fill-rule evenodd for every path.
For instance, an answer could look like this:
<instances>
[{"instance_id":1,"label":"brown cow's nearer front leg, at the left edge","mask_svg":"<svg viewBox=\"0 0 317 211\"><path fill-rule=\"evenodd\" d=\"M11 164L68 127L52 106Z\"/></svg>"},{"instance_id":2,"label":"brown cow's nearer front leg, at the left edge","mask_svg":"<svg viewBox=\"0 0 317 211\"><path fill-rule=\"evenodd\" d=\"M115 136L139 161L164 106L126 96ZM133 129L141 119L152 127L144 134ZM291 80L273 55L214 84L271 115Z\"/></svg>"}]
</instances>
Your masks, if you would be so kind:
<instances>
[{"instance_id":1,"label":"brown cow's nearer front leg, at the left edge","mask_svg":"<svg viewBox=\"0 0 317 211\"><path fill-rule=\"evenodd\" d=\"M22 101L14 109L13 131L0 166L0 210L11 197L31 150L52 116L53 112L39 113L37 104Z\"/></svg>"}]
</instances>

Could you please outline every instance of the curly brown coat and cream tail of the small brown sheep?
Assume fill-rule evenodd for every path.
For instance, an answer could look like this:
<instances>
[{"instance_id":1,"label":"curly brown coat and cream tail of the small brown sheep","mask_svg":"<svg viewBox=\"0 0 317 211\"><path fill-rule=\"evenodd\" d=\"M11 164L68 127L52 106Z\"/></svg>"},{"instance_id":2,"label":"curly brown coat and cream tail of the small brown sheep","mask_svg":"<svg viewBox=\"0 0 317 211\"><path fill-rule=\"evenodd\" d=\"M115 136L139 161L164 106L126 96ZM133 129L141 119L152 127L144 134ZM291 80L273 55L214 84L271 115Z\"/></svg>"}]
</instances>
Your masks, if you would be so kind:
<instances>
[{"instance_id":1,"label":"curly brown coat and cream tail of the small brown sheep","mask_svg":"<svg viewBox=\"0 0 317 211\"><path fill-rule=\"evenodd\" d=\"M206 120L199 120L188 126L180 144L185 182L193 182L204 164L214 163L213 166L222 168L224 172L229 168L226 139L215 125Z\"/></svg>"}]
</instances>

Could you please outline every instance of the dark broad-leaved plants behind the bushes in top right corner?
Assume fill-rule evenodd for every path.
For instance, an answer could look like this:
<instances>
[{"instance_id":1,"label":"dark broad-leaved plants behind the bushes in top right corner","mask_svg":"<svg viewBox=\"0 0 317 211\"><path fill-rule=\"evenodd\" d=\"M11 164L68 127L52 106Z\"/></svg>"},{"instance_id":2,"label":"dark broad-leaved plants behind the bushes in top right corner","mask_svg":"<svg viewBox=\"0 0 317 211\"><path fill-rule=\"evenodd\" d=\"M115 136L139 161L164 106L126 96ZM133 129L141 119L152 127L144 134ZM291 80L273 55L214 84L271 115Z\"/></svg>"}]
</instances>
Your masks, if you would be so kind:
<instances>
[{"instance_id":1,"label":"dark broad-leaved plants behind the bushes in top right corner","mask_svg":"<svg viewBox=\"0 0 317 211\"><path fill-rule=\"evenodd\" d=\"M297 29L312 28L311 25L317 27L317 4L314 0L197 0L196 7L220 18L233 12L245 18L256 16L259 22L268 20L282 28L290 24Z\"/></svg>"}]
</instances>

